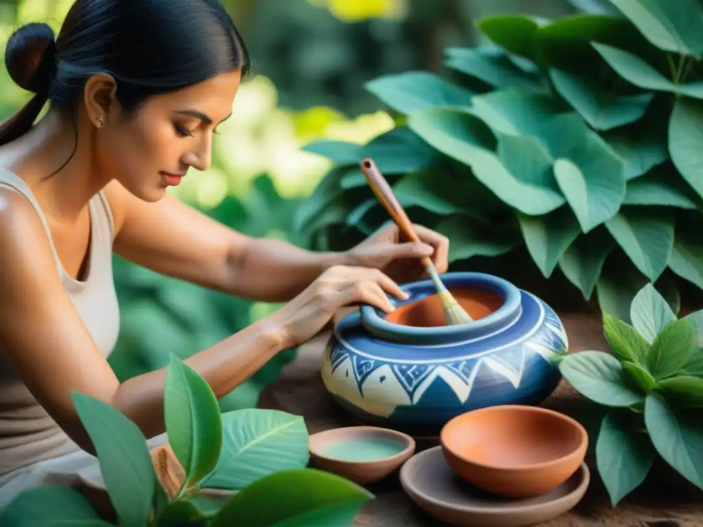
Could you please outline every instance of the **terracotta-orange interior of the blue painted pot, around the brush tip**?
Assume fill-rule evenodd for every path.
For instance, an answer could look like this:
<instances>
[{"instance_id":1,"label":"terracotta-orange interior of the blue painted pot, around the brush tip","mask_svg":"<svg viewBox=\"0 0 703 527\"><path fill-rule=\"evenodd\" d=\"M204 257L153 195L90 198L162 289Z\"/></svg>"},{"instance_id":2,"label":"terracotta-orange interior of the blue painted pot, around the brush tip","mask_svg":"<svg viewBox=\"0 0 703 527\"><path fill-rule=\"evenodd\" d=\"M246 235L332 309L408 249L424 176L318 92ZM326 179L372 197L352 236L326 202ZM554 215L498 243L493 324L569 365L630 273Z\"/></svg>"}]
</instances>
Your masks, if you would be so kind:
<instances>
[{"instance_id":1,"label":"terracotta-orange interior of the blue painted pot, around the brush tip","mask_svg":"<svg viewBox=\"0 0 703 527\"><path fill-rule=\"evenodd\" d=\"M449 288L449 291L474 320L490 315L503 305L503 299L491 292L458 288ZM414 327L446 325L444 306L436 293L396 308L393 313L386 315L385 320L394 324Z\"/></svg>"}]
</instances>

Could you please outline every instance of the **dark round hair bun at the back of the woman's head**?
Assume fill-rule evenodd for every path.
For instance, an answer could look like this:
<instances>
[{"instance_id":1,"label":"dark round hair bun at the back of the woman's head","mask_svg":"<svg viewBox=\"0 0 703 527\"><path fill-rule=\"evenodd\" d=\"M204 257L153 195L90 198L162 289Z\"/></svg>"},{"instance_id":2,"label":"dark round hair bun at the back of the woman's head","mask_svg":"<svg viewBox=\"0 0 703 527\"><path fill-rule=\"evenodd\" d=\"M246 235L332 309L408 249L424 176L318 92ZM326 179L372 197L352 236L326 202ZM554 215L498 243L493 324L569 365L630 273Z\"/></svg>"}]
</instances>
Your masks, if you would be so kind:
<instances>
[{"instance_id":1,"label":"dark round hair bun at the back of the woman's head","mask_svg":"<svg viewBox=\"0 0 703 527\"><path fill-rule=\"evenodd\" d=\"M56 70L56 39L48 24L23 25L11 34L5 65L13 81L33 93L49 89Z\"/></svg>"}]
</instances>

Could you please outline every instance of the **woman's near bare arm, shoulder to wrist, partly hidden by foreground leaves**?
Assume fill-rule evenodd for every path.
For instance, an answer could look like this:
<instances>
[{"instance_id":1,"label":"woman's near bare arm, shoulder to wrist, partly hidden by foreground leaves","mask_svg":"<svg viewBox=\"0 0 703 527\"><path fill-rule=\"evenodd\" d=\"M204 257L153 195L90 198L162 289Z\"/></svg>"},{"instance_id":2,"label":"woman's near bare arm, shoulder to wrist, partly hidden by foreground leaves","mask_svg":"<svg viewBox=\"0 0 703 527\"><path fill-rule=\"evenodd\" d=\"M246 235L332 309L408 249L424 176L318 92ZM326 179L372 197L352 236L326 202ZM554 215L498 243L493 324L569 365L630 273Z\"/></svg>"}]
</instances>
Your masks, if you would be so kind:
<instances>
[{"instance_id":1,"label":"woman's near bare arm, shoulder to wrist, partly hidden by foreground leaves","mask_svg":"<svg viewBox=\"0 0 703 527\"><path fill-rule=\"evenodd\" d=\"M120 384L67 297L36 212L11 190L0 190L0 204L0 350L15 375L88 452L72 391L114 405L147 437L162 433L165 369ZM283 346L278 326L266 318L186 363L221 397Z\"/></svg>"}]
</instances>

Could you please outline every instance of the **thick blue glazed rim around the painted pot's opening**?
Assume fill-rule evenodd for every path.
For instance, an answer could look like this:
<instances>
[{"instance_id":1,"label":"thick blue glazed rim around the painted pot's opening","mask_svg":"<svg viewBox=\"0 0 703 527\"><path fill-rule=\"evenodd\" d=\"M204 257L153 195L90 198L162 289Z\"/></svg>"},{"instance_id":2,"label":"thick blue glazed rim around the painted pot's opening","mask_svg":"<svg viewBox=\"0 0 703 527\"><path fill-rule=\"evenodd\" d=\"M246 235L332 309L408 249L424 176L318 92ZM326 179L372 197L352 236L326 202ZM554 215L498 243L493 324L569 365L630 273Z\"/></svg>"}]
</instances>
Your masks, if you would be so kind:
<instances>
[{"instance_id":1,"label":"thick blue glazed rim around the painted pot's opening","mask_svg":"<svg viewBox=\"0 0 703 527\"><path fill-rule=\"evenodd\" d=\"M415 327L385 320L386 313L368 304L361 306L361 323L375 337L396 342L446 344L451 341L473 337L488 337L515 323L522 313L520 289L494 275L486 273L445 273L440 276L448 289L477 289L495 294L502 300L501 306L490 315L467 324L439 327ZM437 292L429 278L401 286L410 295L407 300L391 298L396 307L411 304Z\"/></svg>"}]
</instances>

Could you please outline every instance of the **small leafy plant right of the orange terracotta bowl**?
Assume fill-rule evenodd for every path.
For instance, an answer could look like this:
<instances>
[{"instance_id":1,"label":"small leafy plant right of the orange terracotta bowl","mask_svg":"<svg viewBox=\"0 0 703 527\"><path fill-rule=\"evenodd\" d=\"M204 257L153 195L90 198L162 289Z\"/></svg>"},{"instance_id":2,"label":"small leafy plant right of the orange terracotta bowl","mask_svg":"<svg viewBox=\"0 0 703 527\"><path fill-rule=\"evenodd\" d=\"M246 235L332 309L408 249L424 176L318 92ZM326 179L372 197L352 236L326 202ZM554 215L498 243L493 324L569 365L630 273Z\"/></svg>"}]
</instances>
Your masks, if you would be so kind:
<instances>
[{"instance_id":1,"label":"small leafy plant right of the orange terracotta bowl","mask_svg":"<svg viewBox=\"0 0 703 527\"><path fill-rule=\"evenodd\" d=\"M595 460L613 506L645 480L657 454L703 489L703 310L678 320L647 284L630 312L633 325L603 313L612 354L581 351L559 366L604 407Z\"/></svg>"}]
</instances>

